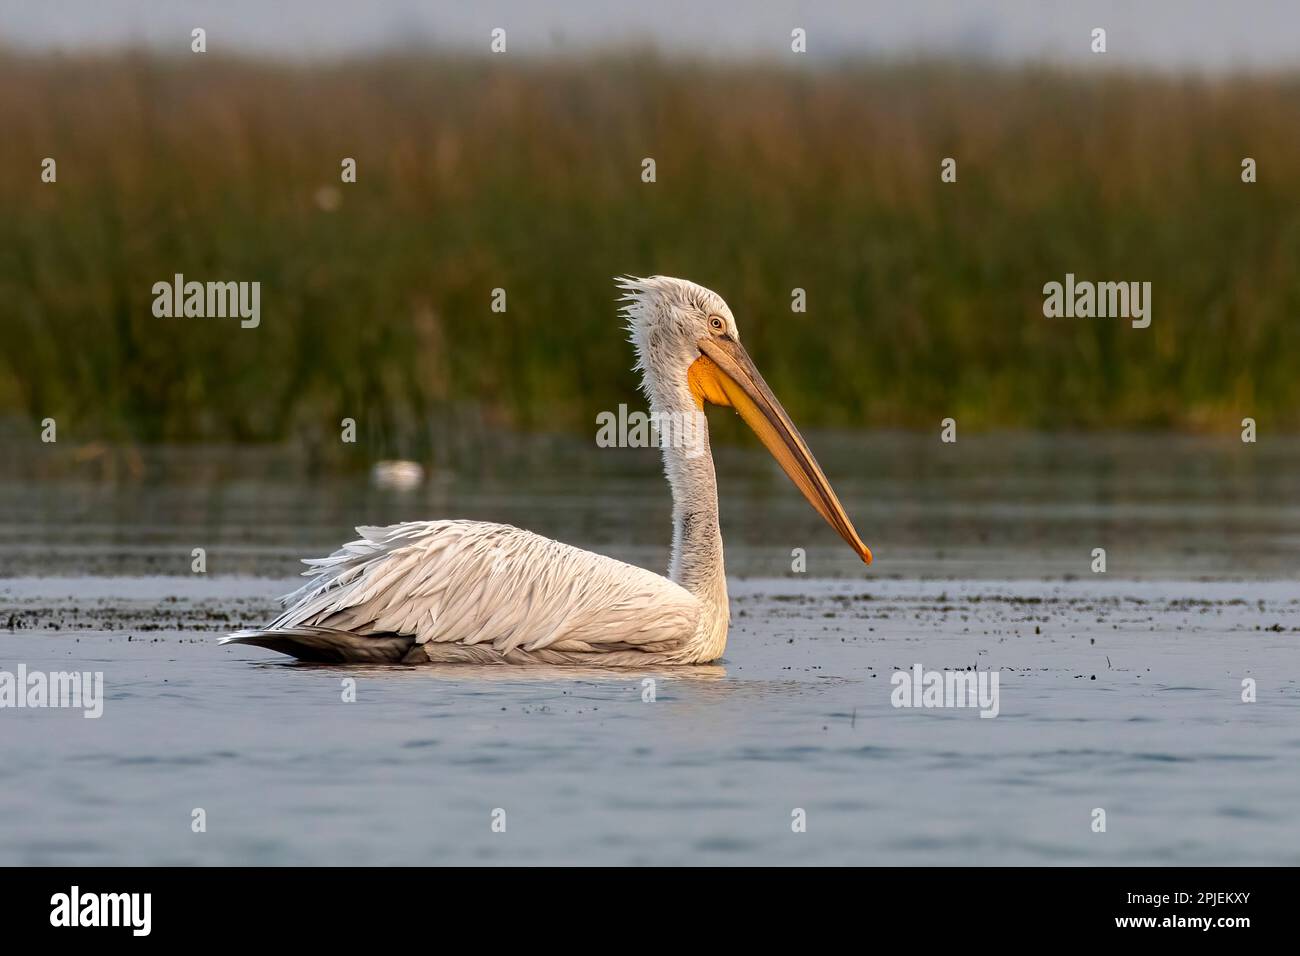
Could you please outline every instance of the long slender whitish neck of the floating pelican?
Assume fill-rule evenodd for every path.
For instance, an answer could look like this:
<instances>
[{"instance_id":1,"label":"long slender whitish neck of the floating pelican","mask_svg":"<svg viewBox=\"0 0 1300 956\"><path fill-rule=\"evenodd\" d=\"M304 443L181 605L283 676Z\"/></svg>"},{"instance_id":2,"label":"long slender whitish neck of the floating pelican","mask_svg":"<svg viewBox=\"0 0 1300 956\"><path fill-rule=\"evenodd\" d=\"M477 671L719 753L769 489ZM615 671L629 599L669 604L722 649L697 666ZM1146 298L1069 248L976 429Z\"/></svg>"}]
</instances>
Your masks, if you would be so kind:
<instances>
[{"instance_id":1,"label":"long slender whitish neck of the floating pelican","mask_svg":"<svg viewBox=\"0 0 1300 956\"><path fill-rule=\"evenodd\" d=\"M699 598L708 618L702 622L702 636L720 643L727 639L731 615L708 421L685 384L677 389L656 390L650 406L659 416L663 468L672 486L668 578ZM666 425L666 421L670 424ZM718 653L722 653L720 644Z\"/></svg>"}]
</instances>

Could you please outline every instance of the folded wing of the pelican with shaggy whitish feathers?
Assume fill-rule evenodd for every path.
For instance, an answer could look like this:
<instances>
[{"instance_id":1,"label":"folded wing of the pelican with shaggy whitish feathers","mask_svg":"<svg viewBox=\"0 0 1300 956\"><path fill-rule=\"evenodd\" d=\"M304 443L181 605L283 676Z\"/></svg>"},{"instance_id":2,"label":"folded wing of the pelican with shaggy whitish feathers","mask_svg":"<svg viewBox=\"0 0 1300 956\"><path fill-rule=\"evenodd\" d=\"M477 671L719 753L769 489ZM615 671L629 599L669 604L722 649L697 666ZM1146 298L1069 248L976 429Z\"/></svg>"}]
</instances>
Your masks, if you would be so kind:
<instances>
[{"instance_id":1,"label":"folded wing of the pelican with shaggy whitish feathers","mask_svg":"<svg viewBox=\"0 0 1300 956\"><path fill-rule=\"evenodd\" d=\"M408 635L416 644L672 652L699 604L645 568L507 524L411 522L307 561L311 583L269 630Z\"/></svg>"}]
</instances>

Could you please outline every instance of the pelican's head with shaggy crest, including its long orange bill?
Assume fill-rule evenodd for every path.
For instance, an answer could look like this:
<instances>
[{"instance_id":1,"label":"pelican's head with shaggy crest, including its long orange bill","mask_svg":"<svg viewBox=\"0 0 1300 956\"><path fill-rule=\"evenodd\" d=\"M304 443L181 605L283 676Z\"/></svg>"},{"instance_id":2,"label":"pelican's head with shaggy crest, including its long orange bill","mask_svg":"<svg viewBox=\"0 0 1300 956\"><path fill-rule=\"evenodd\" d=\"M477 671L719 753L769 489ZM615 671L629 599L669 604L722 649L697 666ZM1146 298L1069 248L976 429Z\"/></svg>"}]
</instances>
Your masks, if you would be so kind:
<instances>
[{"instance_id":1,"label":"pelican's head with shaggy crest, including its long orange bill","mask_svg":"<svg viewBox=\"0 0 1300 956\"><path fill-rule=\"evenodd\" d=\"M686 394L703 408L734 408L777 460L794 486L866 563L867 548L826 480L807 444L740 343L731 308L718 293L684 278L618 280L623 312L637 350L641 388L651 407Z\"/></svg>"}]
</instances>

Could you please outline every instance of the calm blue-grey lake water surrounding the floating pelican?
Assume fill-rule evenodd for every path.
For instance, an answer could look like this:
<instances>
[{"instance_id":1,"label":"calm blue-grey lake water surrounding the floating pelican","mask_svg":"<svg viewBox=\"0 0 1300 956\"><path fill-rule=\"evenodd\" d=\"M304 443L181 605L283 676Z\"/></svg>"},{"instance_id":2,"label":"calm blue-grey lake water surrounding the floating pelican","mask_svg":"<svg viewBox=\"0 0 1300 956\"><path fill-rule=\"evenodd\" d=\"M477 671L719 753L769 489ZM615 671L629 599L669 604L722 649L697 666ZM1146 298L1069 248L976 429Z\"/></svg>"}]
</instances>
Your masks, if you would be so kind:
<instances>
[{"instance_id":1,"label":"calm blue-grey lake water surrounding the floating pelican","mask_svg":"<svg viewBox=\"0 0 1300 956\"><path fill-rule=\"evenodd\" d=\"M1300 442L810 444L876 564L725 449L727 657L644 674L214 639L361 523L491 518L659 570L645 453L503 442L406 494L266 451L6 455L0 670L101 671L105 701L0 709L0 864L1300 862ZM892 706L918 663L996 670L998 715Z\"/></svg>"}]
</instances>

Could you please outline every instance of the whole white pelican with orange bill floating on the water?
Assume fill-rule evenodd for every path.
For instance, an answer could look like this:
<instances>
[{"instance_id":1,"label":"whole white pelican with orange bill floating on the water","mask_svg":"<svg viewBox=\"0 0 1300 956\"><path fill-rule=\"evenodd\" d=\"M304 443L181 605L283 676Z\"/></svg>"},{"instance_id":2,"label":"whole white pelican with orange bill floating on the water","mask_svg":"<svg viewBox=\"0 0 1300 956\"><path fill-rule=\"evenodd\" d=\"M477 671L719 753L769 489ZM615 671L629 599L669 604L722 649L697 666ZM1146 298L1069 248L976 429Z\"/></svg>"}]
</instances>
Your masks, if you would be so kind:
<instances>
[{"instance_id":1,"label":"whole white pelican with orange bill floating on the water","mask_svg":"<svg viewBox=\"0 0 1300 956\"><path fill-rule=\"evenodd\" d=\"M507 524L408 522L308 559L306 585L254 644L329 663L645 667L716 661L731 611L705 405L729 406L809 503L871 563L816 459L767 388L727 303L680 278L623 277L623 317L658 420L697 420L663 441L672 489L668 576Z\"/></svg>"}]
</instances>

